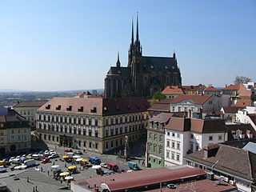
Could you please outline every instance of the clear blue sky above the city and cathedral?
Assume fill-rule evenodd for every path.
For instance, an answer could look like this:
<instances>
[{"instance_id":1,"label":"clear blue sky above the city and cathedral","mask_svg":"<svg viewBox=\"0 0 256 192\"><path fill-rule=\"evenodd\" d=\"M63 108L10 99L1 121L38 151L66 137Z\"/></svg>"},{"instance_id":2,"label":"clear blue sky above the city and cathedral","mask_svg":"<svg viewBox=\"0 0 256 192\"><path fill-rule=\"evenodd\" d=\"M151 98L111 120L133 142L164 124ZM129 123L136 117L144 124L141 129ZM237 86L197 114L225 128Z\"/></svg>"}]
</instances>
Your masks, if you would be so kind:
<instances>
[{"instance_id":1,"label":"clear blue sky above the city and cathedral","mask_svg":"<svg viewBox=\"0 0 256 192\"><path fill-rule=\"evenodd\" d=\"M143 55L175 49L183 85L256 80L254 0L0 0L0 89L103 88L137 11Z\"/></svg>"}]
</instances>

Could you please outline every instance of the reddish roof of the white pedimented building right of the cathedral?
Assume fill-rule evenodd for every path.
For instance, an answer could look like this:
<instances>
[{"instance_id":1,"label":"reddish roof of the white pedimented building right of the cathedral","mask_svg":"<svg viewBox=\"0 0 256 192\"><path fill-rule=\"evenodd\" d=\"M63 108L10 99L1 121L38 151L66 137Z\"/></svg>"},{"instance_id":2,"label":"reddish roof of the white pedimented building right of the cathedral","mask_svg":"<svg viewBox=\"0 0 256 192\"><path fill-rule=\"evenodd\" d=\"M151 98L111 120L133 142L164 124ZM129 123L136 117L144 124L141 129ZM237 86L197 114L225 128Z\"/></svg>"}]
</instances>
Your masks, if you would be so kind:
<instances>
[{"instance_id":1,"label":"reddish roof of the white pedimented building right of the cathedral","mask_svg":"<svg viewBox=\"0 0 256 192\"><path fill-rule=\"evenodd\" d=\"M191 100L194 104L202 105L209 98L213 97L213 94L197 95L197 94L181 94L177 98L174 98L170 103L183 102L185 100Z\"/></svg>"}]
</instances>

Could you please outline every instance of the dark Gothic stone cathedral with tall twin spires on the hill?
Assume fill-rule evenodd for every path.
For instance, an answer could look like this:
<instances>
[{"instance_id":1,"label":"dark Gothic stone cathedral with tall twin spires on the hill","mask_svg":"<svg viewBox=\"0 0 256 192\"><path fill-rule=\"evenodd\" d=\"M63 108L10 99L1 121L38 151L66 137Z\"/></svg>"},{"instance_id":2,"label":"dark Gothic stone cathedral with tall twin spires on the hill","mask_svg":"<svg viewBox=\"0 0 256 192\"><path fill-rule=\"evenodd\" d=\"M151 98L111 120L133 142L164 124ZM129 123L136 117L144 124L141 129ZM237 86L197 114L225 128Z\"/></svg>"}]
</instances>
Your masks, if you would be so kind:
<instances>
[{"instance_id":1,"label":"dark Gothic stone cathedral with tall twin spires on the hill","mask_svg":"<svg viewBox=\"0 0 256 192\"><path fill-rule=\"evenodd\" d=\"M131 42L127 66L121 66L118 54L116 66L111 66L105 78L105 97L151 97L166 86L182 86L181 72L173 57L142 56L138 38L138 16L134 40L132 21Z\"/></svg>"}]
</instances>

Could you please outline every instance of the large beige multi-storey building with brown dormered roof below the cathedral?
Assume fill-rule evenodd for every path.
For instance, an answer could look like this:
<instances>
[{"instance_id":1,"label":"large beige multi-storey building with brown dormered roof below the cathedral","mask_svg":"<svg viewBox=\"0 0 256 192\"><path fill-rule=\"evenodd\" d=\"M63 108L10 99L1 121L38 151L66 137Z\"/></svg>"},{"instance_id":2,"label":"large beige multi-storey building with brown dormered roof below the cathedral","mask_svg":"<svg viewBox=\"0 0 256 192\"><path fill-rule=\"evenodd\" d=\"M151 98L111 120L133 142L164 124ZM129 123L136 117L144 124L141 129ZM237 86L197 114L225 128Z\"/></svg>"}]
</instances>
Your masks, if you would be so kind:
<instances>
[{"instance_id":1,"label":"large beige multi-storey building with brown dormered roof below the cathedral","mask_svg":"<svg viewBox=\"0 0 256 192\"><path fill-rule=\"evenodd\" d=\"M52 98L37 111L38 138L104 153L146 134L145 98Z\"/></svg>"}]
</instances>

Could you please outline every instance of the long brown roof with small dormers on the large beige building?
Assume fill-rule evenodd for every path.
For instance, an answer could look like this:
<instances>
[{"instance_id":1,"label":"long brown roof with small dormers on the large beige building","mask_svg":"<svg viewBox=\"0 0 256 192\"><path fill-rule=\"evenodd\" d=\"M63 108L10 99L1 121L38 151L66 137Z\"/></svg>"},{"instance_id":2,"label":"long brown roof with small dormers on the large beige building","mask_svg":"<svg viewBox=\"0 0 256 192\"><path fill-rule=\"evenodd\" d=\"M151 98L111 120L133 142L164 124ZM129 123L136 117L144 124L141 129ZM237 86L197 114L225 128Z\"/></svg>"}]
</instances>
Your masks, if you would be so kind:
<instances>
[{"instance_id":1,"label":"long brown roof with small dormers on the large beige building","mask_svg":"<svg viewBox=\"0 0 256 192\"><path fill-rule=\"evenodd\" d=\"M52 98L38 111L104 116L142 112L149 106L146 98Z\"/></svg>"}]
</instances>

